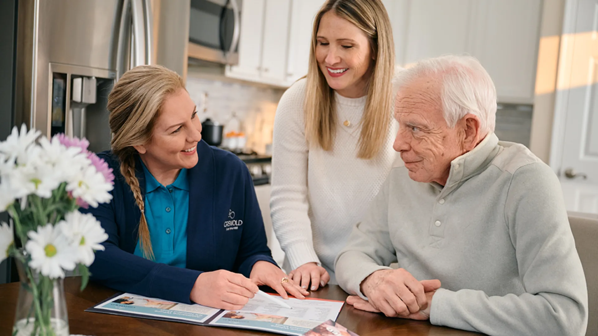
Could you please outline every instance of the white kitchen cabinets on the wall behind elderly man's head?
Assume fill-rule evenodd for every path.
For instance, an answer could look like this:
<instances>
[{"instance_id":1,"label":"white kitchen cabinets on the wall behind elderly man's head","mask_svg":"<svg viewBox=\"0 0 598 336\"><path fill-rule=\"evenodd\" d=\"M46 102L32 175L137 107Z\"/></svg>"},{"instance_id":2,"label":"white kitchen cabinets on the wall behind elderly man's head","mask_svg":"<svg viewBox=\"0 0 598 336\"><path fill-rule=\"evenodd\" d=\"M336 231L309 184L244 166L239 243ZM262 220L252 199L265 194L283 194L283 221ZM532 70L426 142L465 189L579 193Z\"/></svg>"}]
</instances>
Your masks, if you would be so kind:
<instances>
[{"instance_id":1,"label":"white kitchen cabinets on the wall behind elderly man's head","mask_svg":"<svg viewBox=\"0 0 598 336\"><path fill-rule=\"evenodd\" d=\"M499 102L533 103L542 0L385 0L396 63L471 54Z\"/></svg>"}]
</instances>

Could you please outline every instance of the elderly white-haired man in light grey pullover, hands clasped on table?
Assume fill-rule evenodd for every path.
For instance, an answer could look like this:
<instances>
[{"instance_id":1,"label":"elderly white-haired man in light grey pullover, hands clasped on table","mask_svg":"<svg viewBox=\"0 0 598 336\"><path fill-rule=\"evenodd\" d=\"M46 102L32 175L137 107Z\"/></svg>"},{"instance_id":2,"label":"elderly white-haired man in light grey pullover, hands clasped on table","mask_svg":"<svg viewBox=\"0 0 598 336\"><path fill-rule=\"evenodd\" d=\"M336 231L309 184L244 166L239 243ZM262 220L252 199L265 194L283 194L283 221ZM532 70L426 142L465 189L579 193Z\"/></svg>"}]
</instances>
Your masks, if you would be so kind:
<instances>
[{"instance_id":1,"label":"elderly white-haired man in light grey pullover, hands clasped on table","mask_svg":"<svg viewBox=\"0 0 598 336\"><path fill-rule=\"evenodd\" d=\"M400 75L394 167L335 261L355 308L489 335L582 335L584 271L559 181L493 133L496 90L466 56ZM398 262L398 269L389 265Z\"/></svg>"}]
</instances>

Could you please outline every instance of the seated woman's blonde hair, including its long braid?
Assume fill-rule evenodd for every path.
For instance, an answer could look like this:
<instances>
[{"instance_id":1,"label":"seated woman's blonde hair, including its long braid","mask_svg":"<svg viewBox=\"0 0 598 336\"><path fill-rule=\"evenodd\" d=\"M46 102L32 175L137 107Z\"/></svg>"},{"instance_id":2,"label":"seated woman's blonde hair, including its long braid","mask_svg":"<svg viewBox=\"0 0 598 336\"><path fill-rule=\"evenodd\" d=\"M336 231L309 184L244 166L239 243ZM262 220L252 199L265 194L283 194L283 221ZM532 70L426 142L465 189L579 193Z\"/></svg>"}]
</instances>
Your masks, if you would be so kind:
<instances>
[{"instance_id":1,"label":"seated woman's blonde hair, including its long braid","mask_svg":"<svg viewBox=\"0 0 598 336\"><path fill-rule=\"evenodd\" d=\"M108 95L109 124L112 131L112 152L120 160L120 172L131 187L141 210L139 243L145 258L154 259L145 219L145 204L135 176L138 152L133 146L151 140L160 108L169 94L185 88L176 72L160 65L141 65L125 72Z\"/></svg>"}]
</instances>

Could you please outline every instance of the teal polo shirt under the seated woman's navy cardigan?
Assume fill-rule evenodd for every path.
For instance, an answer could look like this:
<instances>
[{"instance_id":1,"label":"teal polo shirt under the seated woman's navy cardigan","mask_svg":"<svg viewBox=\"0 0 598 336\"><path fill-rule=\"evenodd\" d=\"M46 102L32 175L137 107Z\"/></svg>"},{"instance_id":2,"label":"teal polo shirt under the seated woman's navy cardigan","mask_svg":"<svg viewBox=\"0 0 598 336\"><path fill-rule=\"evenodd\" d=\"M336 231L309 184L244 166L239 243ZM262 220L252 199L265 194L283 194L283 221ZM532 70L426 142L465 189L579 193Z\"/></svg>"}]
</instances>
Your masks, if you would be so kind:
<instances>
[{"instance_id":1,"label":"teal polo shirt under the seated woman's navy cardigan","mask_svg":"<svg viewBox=\"0 0 598 336\"><path fill-rule=\"evenodd\" d=\"M187 221L189 182L181 169L173 184L164 187L142 163L145 173L145 220L149 227L155 262L185 268L187 265ZM139 242L135 255L143 256Z\"/></svg>"}]
</instances>

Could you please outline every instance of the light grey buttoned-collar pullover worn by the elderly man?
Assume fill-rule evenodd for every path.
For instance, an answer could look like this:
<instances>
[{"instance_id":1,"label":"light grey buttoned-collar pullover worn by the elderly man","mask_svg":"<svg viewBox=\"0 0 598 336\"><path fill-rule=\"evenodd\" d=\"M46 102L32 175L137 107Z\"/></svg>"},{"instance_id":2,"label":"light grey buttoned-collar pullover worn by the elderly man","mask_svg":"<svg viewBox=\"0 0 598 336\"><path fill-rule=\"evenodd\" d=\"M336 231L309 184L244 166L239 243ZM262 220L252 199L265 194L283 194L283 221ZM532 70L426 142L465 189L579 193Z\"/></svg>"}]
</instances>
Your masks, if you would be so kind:
<instances>
[{"instance_id":1,"label":"light grey buttoned-collar pullover worn by the elderly man","mask_svg":"<svg viewBox=\"0 0 598 336\"><path fill-rule=\"evenodd\" d=\"M584 335L588 298L559 180L525 146L490 134L451 162L445 187L393 168L335 260L358 294L398 262L440 279L430 321L489 335ZM365 298L365 297L364 297Z\"/></svg>"}]
</instances>

